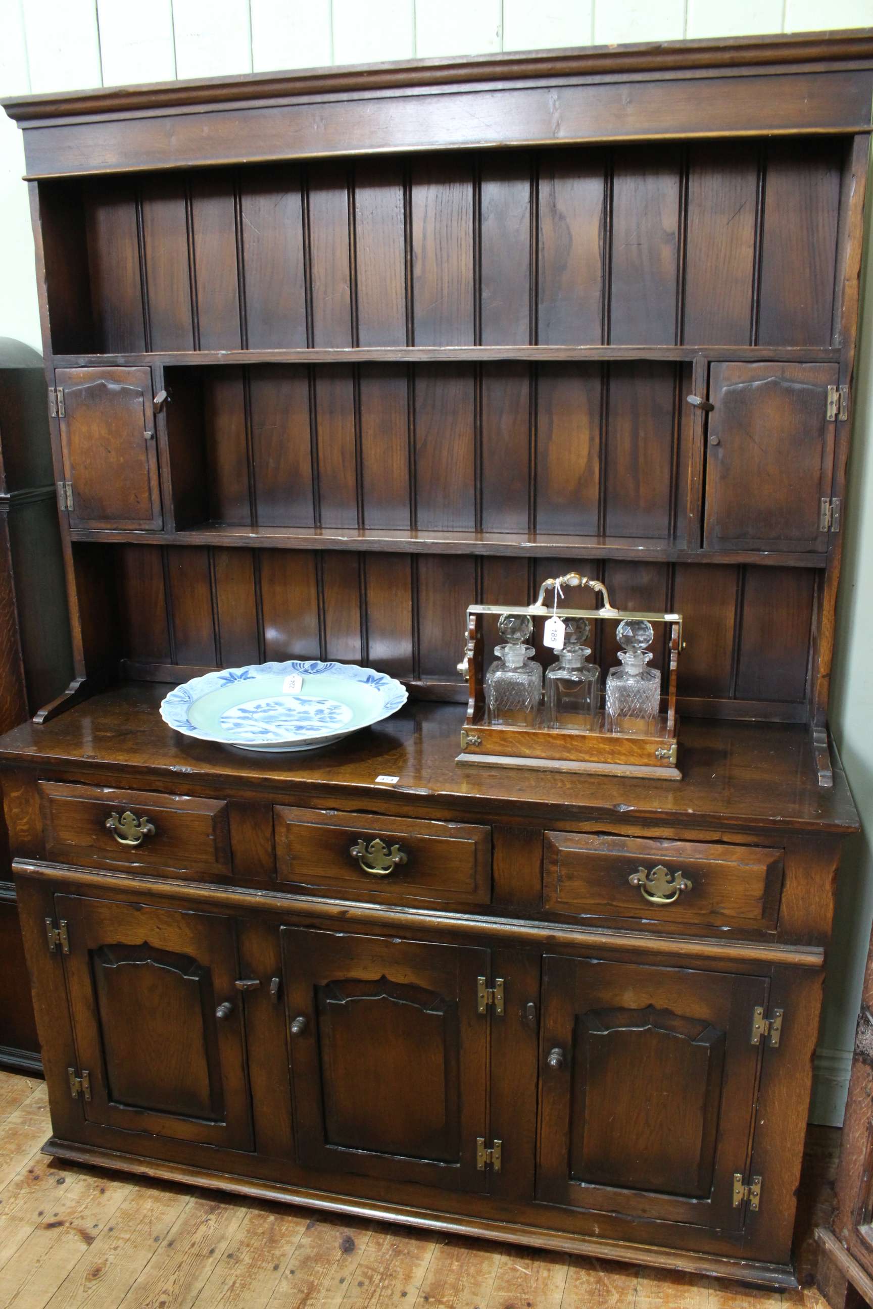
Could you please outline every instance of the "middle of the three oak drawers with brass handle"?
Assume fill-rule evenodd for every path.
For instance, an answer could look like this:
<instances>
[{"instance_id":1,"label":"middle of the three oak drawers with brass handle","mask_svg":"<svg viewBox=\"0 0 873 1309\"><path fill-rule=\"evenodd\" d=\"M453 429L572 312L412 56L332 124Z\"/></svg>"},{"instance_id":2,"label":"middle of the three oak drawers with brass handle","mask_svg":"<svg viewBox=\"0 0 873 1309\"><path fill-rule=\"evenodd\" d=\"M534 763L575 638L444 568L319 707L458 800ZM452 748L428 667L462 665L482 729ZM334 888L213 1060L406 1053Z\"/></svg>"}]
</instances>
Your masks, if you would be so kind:
<instances>
[{"instance_id":1,"label":"middle of the three oak drawers with brass handle","mask_svg":"<svg viewBox=\"0 0 873 1309\"><path fill-rule=\"evenodd\" d=\"M491 902L491 829L277 805L276 869L338 895L398 905Z\"/></svg>"}]
</instances>

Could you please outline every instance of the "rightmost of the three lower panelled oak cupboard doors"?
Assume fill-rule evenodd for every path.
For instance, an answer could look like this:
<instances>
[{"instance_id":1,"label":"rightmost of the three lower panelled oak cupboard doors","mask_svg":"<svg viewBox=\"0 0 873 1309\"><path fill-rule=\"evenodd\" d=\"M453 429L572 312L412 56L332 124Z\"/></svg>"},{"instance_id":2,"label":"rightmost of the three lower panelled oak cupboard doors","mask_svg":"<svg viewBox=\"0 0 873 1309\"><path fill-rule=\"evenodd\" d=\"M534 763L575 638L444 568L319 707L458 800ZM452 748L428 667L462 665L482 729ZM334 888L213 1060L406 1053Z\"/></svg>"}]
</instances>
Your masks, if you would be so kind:
<instances>
[{"instance_id":1,"label":"rightmost of the three lower panelled oak cupboard doors","mask_svg":"<svg viewBox=\"0 0 873 1309\"><path fill-rule=\"evenodd\" d=\"M762 978L546 956L537 1198L742 1227Z\"/></svg>"}]
</instances>

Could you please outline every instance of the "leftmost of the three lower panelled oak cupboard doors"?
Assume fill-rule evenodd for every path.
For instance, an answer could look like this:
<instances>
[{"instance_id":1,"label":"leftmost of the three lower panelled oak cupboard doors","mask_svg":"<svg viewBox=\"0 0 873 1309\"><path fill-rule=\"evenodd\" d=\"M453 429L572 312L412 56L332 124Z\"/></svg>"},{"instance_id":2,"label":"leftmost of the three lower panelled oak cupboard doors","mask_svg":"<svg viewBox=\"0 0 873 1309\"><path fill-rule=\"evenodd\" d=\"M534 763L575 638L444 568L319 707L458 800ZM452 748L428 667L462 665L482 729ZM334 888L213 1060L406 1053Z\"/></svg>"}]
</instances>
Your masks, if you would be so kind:
<instances>
[{"instance_id":1,"label":"leftmost of the three lower panelled oak cupboard doors","mask_svg":"<svg viewBox=\"0 0 873 1309\"><path fill-rule=\"evenodd\" d=\"M233 919L80 895L55 905L85 1118L251 1149Z\"/></svg>"}]
</instances>

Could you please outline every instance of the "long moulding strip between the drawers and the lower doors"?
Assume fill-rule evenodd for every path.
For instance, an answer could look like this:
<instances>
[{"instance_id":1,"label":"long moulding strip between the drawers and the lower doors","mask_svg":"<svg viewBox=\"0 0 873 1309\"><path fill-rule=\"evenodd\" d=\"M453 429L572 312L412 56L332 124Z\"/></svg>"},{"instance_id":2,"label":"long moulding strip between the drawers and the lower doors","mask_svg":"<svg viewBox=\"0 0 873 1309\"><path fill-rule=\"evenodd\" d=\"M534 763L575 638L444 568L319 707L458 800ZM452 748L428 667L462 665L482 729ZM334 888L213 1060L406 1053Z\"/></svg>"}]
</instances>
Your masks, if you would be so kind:
<instances>
[{"instance_id":1,"label":"long moulding strip between the drawers and the lower doors","mask_svg":"<svg viewBox=\"0 0 873 1309\"><path fill-rule=\"evenodd\" d=\"M75 864L56 864L35 859L14 859L14 873L43 881L76 881L89 886L115 885L124 889L160 891L191 901L215 901L237 907L257 905L260 908L288 912L294 916L313 915L343 923L385 923L391 927L427 927L454 931L465 936L482 933L490 937L512 937L550 945L588 946L597 950L635 949L641 954L675 954L683 958L719 958L724 961L775 963L789 967L821 969L825 949L821 945L777 945L767 941L730 940L699 936L670 936L627 928L577 927L550 919L490 918L483 914L465 914L448 908L414 908L394 905L369 905L331 897L300 895L279 891L274 885L254 888L228 886L220 882L191 882L173 877L152 877L148 873L130 873L113 869L80 868ZM487 908L487 907L484 907Z\"/></svg>"}]
</instances>

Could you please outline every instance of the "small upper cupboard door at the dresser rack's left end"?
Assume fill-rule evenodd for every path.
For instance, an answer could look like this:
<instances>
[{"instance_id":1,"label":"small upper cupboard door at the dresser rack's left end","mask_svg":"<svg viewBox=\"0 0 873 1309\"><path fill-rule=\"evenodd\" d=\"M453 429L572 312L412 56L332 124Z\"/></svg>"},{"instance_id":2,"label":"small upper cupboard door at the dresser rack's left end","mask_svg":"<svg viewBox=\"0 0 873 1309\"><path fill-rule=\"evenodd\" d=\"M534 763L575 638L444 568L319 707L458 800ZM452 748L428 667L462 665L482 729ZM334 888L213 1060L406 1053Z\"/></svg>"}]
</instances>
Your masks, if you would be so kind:
<instances>
[{"instance_id":1,"label":"small upper cupboard door at the dresser rack's left end","mask_svg":"<svg viewBox=\"0 0 873 1309\"><path fill-rule=\"evenodd\" d=\"M55 382L69 525L160 528L152 370L59 368Z\"/></svg>"}]
</instances>

